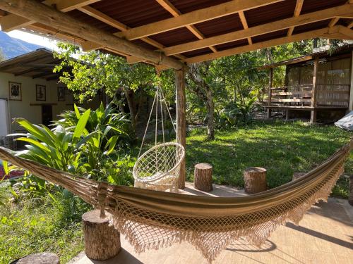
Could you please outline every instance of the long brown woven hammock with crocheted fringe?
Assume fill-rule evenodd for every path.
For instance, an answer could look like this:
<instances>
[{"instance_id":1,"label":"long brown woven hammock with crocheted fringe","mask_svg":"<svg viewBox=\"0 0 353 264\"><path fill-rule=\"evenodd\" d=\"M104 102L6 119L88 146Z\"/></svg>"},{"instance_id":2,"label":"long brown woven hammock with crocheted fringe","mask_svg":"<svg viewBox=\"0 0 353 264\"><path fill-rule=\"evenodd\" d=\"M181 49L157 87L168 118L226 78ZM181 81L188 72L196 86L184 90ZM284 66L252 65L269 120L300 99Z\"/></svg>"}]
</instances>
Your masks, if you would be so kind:
<instances>
[{"instance_id":1,"label":"long brown woven hammock with crocheted fringe","mask_svg":"<svg viewBox=\"0 0 353 264\"><path fill-rule=\"evenodd\" d=\"M0 148L0 158L44 180L59 184L84 201L112 213L112 225L137 252L189 241L212 261L234 240L261 246L278 225L298 224L306 210L326 200L353 146L343 146L294 182L242 197L189 196L113 186L18 158Z\"/></svg>"}]
</instances>

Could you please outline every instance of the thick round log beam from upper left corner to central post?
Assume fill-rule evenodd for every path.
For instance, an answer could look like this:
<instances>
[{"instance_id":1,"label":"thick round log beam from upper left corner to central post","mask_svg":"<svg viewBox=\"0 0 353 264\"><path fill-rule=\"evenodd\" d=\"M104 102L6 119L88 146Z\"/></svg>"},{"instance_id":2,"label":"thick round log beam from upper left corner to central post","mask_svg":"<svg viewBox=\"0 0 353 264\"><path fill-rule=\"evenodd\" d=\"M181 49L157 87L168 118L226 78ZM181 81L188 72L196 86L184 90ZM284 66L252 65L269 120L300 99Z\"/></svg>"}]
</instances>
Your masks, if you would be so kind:
<instances>
[{"instance_id":1,"label":"thick round log beam from upper left corner to central post","mask_svg":"<svg viewBox=\"0 0 353 264\"><path fill-rule=\"evenodd\" d=\"M184 63L181 63L174 58L164 56L164 54L161 54L160 52L145 49L142 46L127 41L126 39L120 39L109 32L76 20L66 13L56 11L55 9L38 3L35 0L0 1L0 9L29 18L30 20L48 25L49 27L58 28L61 32L78 35L88 41L107 46L108 48L124 52L125 54L144 58L146 61L151 61L152 63L167 65L175 69L181 69L185 66Z\"/></svg>"}]
</instances>

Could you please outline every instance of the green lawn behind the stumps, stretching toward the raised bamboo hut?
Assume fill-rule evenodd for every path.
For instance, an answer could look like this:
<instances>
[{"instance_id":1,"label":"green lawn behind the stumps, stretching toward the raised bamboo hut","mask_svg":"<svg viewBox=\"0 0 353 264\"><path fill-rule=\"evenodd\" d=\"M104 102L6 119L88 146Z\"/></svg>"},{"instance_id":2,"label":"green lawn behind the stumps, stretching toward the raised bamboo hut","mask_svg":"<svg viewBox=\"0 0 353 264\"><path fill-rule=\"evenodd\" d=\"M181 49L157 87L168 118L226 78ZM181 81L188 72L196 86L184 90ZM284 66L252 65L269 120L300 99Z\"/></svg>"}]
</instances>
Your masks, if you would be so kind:
<instances>
[{"instance_id":1,"label":"green lawn behind the stumps, stretching toward the raised bamboo hut","mask_svg":"<svg viewBox=\"0 0 353 264\"><path fill-rule=\"evenodd\" d=\"M186 149L187 179L193 179L196 163L210 163L215 183L243 187L245 168L258 166L268 170L268 187L277 187L291 181L293 172L315 168L351 135L333 125L282 121L254 122L248 127L216 132L214 141L205 140L203 130L191 131ZM352 156L345 170L353 172ZM340 179L333 195L347 198L347 179Z\"/></svg>"}]
</instances>

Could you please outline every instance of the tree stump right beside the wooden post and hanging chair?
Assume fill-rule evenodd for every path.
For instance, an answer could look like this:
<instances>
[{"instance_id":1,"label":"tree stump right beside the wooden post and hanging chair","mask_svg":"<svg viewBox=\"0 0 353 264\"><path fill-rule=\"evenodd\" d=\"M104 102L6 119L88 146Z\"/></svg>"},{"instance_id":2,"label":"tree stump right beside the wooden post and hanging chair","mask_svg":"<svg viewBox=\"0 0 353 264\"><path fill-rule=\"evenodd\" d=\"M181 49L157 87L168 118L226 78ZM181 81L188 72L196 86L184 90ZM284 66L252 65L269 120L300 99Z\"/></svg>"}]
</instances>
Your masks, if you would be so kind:
<instances>
[{"instance_id":1,"label":"tree stump right beside the wooden post and hanging chair","mask_svg":"<svg viewBox=\"0 0 353 264\"><path fill-rule=\"evenodd\" d=\"M212 165L208 163L195 165L193 187L201 191L212 191Z\"/></svg>"}]
</instances>

